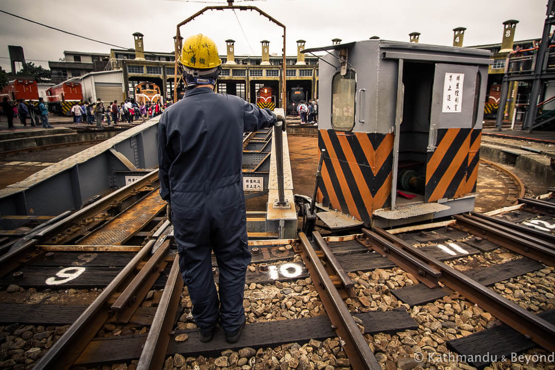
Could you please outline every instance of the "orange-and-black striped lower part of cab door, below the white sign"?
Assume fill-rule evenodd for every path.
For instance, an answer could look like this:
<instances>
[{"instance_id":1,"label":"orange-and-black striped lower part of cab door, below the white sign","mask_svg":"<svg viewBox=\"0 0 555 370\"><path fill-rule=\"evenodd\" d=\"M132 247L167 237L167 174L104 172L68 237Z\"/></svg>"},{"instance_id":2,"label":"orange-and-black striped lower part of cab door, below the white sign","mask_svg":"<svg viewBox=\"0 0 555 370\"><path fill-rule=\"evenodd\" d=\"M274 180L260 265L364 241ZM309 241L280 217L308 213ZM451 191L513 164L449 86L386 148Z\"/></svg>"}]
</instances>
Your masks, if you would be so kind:
<instances>
[{"instance_id":1,"label":"orange-and-black striped lower part of cab door, below the white sign","mask_svg":"<svg viewBox=\"0 0 555 370\"><path fill-rule=\"evenodd\" d=\"M426 164L426 201L460 197L476 190L481 130L439 129Z\"/></svg>"}]
</instances>

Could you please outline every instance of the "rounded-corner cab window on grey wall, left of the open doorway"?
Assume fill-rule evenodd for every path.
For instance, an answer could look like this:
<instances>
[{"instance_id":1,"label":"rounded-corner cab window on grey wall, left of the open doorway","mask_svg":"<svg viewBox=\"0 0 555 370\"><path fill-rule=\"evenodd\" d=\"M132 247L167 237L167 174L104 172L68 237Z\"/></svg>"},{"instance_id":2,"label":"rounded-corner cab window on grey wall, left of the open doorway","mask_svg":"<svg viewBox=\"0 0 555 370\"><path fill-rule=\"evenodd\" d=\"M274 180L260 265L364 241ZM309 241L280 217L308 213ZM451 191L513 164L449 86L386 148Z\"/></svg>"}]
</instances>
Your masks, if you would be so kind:
<instances>
[{"instance_id":1,"label":"rounded-corner cab window on grey wall, left of the open doorway","mask_svg":"<svg viewBox=\"0 0 555 370\"><path fill-rule=\"evenodd\" d=\"M335 130L350 131L355 125L356 73L339 72L331 80L331 126Z\"/></svg>"}]
</instances>

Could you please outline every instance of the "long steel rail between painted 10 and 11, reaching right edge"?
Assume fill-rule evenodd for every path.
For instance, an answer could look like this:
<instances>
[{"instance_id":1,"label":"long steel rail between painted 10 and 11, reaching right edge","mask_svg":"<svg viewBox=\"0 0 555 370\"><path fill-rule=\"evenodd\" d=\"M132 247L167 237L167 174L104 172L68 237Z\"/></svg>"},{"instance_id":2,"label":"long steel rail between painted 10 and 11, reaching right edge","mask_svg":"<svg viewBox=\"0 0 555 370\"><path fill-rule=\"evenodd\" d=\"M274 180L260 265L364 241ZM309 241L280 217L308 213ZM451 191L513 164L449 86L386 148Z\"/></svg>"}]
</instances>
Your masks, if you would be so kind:
<instances>
[{"instance_id":1,"label":"long steel rail between painted 10 and 11, reaching right edge","mask_svg":"<svg viewBox=\"0 0 555 370\"><path fill-rule=\"evenodd\" d=\"M369 236L374 233L380 235L403 250L410 252L413 256L418 257L422 262L437 268L441 272L440 281L447 287L461 293L468 300L490 312L514 330L528 336L548 351L555 351L555 325L552 323L524 310L521 306L498 295L481 283L472 280L464 273L433 257L427 256L422 251L379 227L375 227L374 231L362 229L362 232Z\"/></svg>"}]
</instances>

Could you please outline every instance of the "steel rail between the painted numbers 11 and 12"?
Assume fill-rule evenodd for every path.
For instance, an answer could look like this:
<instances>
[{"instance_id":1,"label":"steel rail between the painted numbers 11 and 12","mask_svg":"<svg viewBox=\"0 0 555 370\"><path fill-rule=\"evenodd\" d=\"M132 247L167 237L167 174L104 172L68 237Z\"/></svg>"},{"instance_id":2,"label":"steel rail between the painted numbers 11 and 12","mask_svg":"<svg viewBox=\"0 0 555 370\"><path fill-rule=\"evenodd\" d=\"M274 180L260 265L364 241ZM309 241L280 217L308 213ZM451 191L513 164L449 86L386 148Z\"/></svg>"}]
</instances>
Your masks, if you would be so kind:
<instances>
[{"instance_id":1,"label":"steel rail between the painted numbers 11 and 12","mask_svg":"<svg viewBox=\"0 0 555 370\"><path fill-rule=\"evenodd\" d=\"M468 217L456 215L455 220L457 220L457 222L452 225L455 229L470 232L473 235L490 240L513 252L545 263L546 265L555 266L555 250L553 249L546 248L507 231L503 231L499 226L488 225L485 222L481 222L482 220L480 219L469 219Z\"/></svg>"}]
</instances>

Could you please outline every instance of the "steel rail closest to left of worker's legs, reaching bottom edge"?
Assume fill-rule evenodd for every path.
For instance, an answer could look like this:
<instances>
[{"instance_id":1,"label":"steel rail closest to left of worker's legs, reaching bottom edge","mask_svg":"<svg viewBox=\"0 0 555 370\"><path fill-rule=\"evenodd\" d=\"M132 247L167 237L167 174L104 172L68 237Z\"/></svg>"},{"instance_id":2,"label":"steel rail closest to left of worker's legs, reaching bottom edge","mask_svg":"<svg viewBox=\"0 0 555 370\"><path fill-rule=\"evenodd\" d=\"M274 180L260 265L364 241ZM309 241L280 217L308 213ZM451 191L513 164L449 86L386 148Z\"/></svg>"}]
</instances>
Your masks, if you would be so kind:
<instances>
[{"instance_id":1,"label":"steel rail closest to left of worker's legs, reaching bottom edge","mask_svg":"<svg viewBox=\"0 0 555 370\"><path fill-rule=\"evenodd\" d=\"M138 370L155 370L164 367L171 326L178 310L181 291L183 291L183 279L179 273L179 257L175 255L162 298L150 325L147 342L144 344L137 364Z\"/></svg>"}]
</instances>

